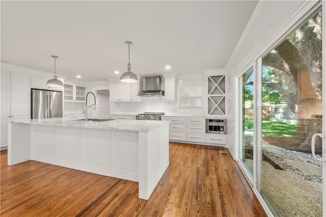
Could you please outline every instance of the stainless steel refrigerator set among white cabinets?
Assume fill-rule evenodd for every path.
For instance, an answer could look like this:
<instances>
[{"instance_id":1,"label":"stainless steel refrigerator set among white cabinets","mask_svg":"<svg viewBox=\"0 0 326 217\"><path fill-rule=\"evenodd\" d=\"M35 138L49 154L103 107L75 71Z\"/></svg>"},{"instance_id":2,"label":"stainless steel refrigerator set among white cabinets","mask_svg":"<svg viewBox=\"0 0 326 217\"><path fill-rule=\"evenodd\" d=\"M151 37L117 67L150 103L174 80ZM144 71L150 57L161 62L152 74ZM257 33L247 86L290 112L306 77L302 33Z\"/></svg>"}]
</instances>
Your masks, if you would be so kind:
<instances>
[{"instance_id":1,"label":"stainless steel refrigerator set among white cabinets","mask_svg":"<svg viewBox=\"0 0 326 217\"><path fill-rule=\"evenodd\" d=\"M63 96L61 91L31 89L31 118L63 117Z\"/></svg>"}]
</instances>

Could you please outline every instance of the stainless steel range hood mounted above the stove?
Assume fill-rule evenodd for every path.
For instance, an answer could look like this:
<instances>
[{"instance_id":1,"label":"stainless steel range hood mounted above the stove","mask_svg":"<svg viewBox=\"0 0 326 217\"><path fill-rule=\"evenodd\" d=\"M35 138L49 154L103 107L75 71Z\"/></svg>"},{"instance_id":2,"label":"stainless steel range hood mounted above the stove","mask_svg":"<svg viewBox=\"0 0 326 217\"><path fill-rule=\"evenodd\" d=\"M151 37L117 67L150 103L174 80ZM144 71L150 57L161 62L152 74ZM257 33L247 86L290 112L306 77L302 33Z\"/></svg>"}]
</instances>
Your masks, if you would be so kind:
<instances>
[{"instance_id":1,"label":"stainless steel range hood mounted above the stove","mask_svg":"<svg viewBox=\"0 0 326 217\"><path fill-rule=\"evenodd\" d=\"M138 96L164 96L164 77L161 75L140 77Z\"/></svg>"}]
</instances>

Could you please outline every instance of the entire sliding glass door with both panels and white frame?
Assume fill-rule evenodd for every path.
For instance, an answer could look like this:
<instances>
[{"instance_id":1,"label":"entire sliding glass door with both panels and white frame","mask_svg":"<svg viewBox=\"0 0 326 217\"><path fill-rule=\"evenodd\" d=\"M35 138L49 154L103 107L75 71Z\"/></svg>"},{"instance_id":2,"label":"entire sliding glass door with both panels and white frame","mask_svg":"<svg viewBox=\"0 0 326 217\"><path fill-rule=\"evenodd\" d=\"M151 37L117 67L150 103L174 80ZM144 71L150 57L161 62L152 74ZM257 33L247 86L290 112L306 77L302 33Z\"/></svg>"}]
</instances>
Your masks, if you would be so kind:
<instances>
[{"instance_id":1,"label":"entire sliding glass door with both panels and white frame","mask_svg":"<svg viewBox=\"0 0 326 217\"><path fill-rule=\"evenodd\" d=\"M322 20L312 11L238 77L239 166L279 216L326 216Z\"/></svg>"}]
</instances>

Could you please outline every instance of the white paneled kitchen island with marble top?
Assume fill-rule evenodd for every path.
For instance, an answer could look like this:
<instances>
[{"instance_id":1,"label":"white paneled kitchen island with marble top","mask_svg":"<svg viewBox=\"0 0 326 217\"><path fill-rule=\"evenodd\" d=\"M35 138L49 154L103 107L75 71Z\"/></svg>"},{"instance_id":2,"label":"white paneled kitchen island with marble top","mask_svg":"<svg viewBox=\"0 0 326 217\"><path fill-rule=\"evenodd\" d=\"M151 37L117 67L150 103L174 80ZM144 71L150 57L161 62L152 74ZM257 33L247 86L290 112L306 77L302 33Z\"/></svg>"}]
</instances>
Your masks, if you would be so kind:
<instances>
[{"instance_id":1,"label":"white paneled kitchen island with marble top","mask_svg":"<svg viewBox=\"0 0 326 217\"><path fill-rule=\"evenodd\" d=\"M13 120L8 165L26 160L139 182L148 200L169 166L169 121Z\"/></svg>"}]
</instances>

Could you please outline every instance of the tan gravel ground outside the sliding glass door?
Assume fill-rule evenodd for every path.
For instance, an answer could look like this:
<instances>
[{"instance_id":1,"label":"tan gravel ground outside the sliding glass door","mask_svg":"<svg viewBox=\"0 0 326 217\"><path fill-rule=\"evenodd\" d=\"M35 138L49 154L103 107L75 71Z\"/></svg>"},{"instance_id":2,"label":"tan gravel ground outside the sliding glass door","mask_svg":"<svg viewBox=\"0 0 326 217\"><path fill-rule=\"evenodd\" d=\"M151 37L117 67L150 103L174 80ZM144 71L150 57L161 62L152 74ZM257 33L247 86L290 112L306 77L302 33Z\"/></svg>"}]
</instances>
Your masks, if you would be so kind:
<instances>
[{"instance_id":1,"label":"tan gravel ground outside the sliding glass door","mask_svg":"<svg viewBox=\"0 0 326 217\"><path fill-rule=\"evenodd\" d=\"M251 135L246 135L250 137ZM251 138L246 138L250 141ZM263 152L283 170L277 170L262 162L262 193L269 200L280 216L322 216L322 178L312 175L309 171L298 170L287 164L291 161L307 162L314 167L321 167L321 163L311 154L289 151L277 146L263 144ZM252 160L244 160L252 167Z\"/></svg>"}]
</instances>

